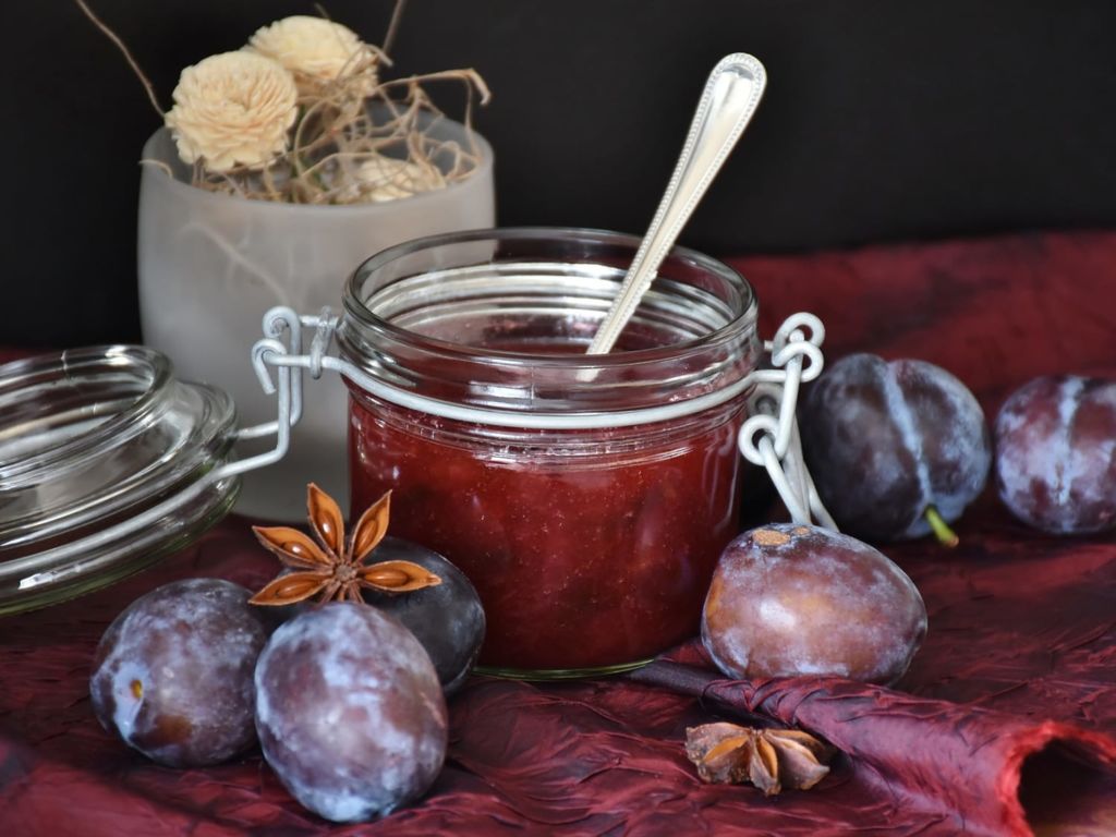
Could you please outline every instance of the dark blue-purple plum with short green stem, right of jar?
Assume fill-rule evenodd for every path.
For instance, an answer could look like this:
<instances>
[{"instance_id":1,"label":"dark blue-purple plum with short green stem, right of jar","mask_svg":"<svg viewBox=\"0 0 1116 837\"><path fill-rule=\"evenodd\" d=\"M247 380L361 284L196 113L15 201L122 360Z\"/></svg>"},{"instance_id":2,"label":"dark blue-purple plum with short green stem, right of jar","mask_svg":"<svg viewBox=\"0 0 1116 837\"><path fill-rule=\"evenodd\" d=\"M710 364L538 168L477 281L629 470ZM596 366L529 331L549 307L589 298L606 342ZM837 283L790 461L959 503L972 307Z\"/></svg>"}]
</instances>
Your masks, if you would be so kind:
<instances>
[{"instance_id":1,"label":"dark blue-purple plum with short green stem, right of jar","mask_svg":"<svg viewBox=\"0 0 1116 837\"><path fill-rule=\"evenodd\" d=\"M952 522L984 489L984 413L956 377L923 360L841 358L800 413L818 493L841 530L872 541L921 538L933 507Z\"/></svg>"}]
</instances>

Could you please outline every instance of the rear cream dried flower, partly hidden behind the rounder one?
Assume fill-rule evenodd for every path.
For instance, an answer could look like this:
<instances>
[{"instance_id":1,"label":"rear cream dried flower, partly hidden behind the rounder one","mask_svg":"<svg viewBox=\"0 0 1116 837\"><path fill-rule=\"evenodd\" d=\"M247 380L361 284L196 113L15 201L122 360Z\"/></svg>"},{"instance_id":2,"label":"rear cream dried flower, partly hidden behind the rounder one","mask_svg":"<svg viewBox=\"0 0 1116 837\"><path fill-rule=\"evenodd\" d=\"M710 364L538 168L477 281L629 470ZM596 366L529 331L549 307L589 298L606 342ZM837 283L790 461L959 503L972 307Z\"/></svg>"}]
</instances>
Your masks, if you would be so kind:
<instances>
[{"instance_id":1,"label":"rear cream dried flower, partly hidden behind the rounder one","mask_svg":"<svg viewBox=\"0 0 1116 837\"><path fill-rule=\"evenodd\" d=\"M248 49L272 58L295 74L302 93L314 93L338 76L360 70L367 87L375 86L374 52L340 23L296 15L257 30ZM371 89L365 90L371 93Z\"/></svg>"}]
</instances>

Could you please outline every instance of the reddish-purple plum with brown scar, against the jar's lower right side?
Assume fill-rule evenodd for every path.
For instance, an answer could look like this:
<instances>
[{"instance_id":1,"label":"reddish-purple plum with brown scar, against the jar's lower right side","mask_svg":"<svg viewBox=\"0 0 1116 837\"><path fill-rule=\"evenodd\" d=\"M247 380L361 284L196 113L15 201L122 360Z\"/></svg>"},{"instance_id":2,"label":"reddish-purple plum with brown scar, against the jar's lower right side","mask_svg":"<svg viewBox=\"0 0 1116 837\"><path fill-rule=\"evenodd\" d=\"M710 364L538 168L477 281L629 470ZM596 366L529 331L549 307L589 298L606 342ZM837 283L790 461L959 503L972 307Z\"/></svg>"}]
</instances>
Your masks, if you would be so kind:
<instances>
[{"instance_id":1,"label":"reddish-purple plum with brown scar, against the jar's lower right side","mask_svg":"<svg viewBox=\"0 0 1116 837\"><path fill-rule=\"evenodd\" d=\"M898 680L926 635L914 583L873 547L771 523L728 546L702 613L702 642L731 677Z\"/></svg>"}]
</instances>

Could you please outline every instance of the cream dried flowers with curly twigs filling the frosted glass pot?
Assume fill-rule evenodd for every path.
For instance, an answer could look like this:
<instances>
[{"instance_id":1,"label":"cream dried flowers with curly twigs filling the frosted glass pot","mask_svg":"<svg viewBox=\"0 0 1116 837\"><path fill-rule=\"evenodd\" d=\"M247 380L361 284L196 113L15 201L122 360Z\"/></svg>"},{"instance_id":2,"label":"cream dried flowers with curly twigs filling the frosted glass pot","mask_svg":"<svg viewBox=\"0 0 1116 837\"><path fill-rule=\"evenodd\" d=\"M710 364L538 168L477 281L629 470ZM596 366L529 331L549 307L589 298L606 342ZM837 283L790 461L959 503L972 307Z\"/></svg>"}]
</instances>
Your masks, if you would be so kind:
<instances>
[{"instance_id":1,"label":"cream dried flowers with curly twigs filling the frosted glass pot","mask_svg":"<svg viewBox=\"0 0 1116 837\"><path fill-rule=\"evenodd\" d=\"M124 52L199 189L261 201L371 203L456 183L481 163L471 133L465 143L441 136L444 114L423 87L463 83L469 128L472 95L489 100L475 70L384 80L378 69L391 61L378 47L325 18L295 16L262 27L237 52L184 69L174 107L163 113L124 42L78 6ZM401 150L405 162L386 156Z\"/></svg>"}]
</instances>

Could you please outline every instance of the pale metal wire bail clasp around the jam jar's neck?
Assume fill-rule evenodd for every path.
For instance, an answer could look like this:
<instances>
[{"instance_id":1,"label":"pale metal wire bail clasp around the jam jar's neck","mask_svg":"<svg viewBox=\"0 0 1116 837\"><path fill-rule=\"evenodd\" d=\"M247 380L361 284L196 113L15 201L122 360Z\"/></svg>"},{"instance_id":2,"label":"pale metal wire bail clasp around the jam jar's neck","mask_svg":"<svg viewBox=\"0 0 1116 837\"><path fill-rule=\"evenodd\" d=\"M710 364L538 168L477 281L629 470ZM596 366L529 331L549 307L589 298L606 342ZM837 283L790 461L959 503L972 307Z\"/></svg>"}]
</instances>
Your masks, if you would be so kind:
<instances>
[{"instance_id":1,"label":"pale metal wire bail clasp around the jam jar's neck","mask_svg":"<svg viewBox=\"0 0 1116 837\"><path fill-rule=\"evenodd\" d=\"M451 405L414 393L386 387L374 381L353 364L329 355L338 318L329 308L323 308L317 316L299 316L294 309L276 307L263 316L263 338L252 347L252 365L266 393L277 395L277 414L273 422L244 427L238 439L259 439L275 435L276 446L250 459L230 462L214 473L214 479L240 474L263 468L281 460L290 448L290 429L302 414L302 376L307 369L318 378L323 369L334 369L365 389L381 395L405 407L426 410L449 419L503 424L519 424L523 416L499 416L493 411ZM302 354L302 329L315 329L308 354ZM287 343L280 339L287 335ZM737 444L749 462L767 469L782 499L791 520L796 523L817 521L821 526L836 529L829 512L818 497L814 480L802 459L802 443L798 433L795 411L798 405L799 387L821 374L824 358L821 343L825 326L812 314L793 314L783 320L775 339L767 340L763 348L771 356L771 369L752 372L740 385L727 389L723 395L710 400L711 404L735 397L751 388L748 398L749 419L741 426ZM272 371L276 378L272 378ZM704 396L694 401L703 401ZM680 410L692 410L685 403L656 407L654 412L662 419L672 417ZM556 416L539 426L568 427L594 426L602 421L597 414L580 417ZM644 421L633 415L625 424Z\"/></svg>"}]
</instances>

